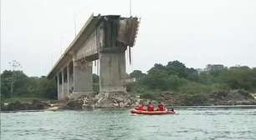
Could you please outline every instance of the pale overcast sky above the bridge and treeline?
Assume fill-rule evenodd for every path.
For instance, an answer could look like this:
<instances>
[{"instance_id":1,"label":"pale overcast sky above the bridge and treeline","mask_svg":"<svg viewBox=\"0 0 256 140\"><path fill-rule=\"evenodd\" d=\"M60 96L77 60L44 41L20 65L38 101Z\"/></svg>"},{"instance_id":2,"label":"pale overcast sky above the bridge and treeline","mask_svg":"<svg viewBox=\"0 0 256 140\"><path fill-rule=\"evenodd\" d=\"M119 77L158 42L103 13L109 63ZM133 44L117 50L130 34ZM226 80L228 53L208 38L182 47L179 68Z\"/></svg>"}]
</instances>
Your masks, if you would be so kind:
<instances>
[{"instance_id":1,"label":"pale overcast sky above the bridge and treeline","mask_svg":"<svg viewBox=\"0 0 256 140\"><path fill-rule=\"evenodd\" d=\"M256 67L255 0L132 0L141 18L127 72L179 60ZM129 0L2 0L1 65L17 60L28 76L46 75L92 13L129 16ZM75 21L75 22L74 22Z\"/></svg>"}]
</instances>

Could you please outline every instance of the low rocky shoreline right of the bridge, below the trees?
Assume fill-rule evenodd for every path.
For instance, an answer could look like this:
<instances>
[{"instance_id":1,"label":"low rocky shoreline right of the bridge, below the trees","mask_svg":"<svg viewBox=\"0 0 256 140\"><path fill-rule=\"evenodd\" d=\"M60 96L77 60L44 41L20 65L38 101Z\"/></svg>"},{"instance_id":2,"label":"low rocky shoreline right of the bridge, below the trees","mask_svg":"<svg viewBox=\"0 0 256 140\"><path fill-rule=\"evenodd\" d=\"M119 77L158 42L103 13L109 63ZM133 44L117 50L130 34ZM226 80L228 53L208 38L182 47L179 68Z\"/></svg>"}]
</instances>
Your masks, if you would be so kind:
<instances>
[{"instance_id":1,"label":"low rocky shoreline right of the bridge, below the trees","mask_svg":"<svg viewBox=\"0 0 256 140\"><path fill-rule=\"evenodd\" d=\"M169 106L233 106L233 105L256 105L255 94L241 89L230 91L218 91L202 94L174 94L161 92L155 97L156 100L165 102Z\"/></svg>"}]
</instances>

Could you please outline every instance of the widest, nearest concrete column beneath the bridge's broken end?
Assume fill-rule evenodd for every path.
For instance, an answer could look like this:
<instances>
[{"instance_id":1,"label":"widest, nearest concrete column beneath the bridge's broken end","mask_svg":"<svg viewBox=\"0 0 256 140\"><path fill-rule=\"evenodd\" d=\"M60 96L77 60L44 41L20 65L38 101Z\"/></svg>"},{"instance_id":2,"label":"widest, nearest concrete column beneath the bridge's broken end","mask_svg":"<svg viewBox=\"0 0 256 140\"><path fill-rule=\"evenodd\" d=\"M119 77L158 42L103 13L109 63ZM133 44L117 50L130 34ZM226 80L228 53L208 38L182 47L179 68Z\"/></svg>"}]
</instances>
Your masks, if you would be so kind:
<instances>
[{"instance_id":1,"label":"widest, nearest concrete column beneath the bridge's broken end","mask_svg":"<svg viewBox=\"0 0 256 140\"><path fill-rule=\"evenodd\" d=\"M125 92L125 52L100 53L100 92Z\"/></svg>"}]
</instances>

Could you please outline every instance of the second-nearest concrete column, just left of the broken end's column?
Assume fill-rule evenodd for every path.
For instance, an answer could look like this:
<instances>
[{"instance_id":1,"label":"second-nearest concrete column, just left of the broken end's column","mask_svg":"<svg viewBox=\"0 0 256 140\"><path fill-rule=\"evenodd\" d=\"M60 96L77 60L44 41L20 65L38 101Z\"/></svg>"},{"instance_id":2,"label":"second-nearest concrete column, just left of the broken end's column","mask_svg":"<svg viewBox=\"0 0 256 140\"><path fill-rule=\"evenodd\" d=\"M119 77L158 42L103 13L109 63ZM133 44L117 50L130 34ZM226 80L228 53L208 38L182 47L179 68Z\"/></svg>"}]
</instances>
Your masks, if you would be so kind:
<instances>
[{"instance_id":1,"label":"second-nearest concrete column, just left of the broken end's column","mask_svg":"<svg viewBox=\"0 0 256 140\"><path fill-rule=\"evenodd\" d=\"M74 97L93 92L92 62L73 62L74 66Z\"/></svg>"}]
</instances>

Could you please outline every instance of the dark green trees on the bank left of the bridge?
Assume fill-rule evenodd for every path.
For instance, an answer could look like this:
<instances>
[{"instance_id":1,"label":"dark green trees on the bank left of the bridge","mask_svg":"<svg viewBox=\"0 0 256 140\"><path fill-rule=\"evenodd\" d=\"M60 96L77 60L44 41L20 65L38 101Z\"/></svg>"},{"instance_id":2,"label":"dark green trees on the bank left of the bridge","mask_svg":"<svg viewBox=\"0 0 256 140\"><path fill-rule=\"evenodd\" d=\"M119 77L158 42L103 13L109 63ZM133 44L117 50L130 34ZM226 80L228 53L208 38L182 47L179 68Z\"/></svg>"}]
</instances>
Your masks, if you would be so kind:
<instances>
[{"instance_id":1,"label":"dark green trees on the bank left of the bridge","mask_svg":"<svg viewBox=\"0 0 256 140\"><path fill-rule=\"evenodd\" d=\"M13 94L11 86L13 81ZM3 99L9 97L57 97L57 84L46 77L28 77L22 71L3 71L1 74Z\"/></svg>"}]
</instances>

